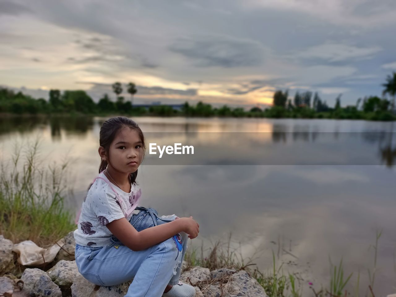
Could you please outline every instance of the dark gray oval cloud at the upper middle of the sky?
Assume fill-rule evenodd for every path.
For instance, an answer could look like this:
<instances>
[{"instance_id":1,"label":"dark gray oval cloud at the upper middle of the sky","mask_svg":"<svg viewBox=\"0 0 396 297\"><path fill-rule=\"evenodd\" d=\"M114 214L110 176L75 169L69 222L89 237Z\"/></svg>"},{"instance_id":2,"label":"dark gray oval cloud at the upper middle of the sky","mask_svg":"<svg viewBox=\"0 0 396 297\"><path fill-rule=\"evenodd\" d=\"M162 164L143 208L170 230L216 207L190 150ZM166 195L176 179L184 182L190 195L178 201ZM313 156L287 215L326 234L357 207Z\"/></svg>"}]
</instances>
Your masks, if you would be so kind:
<instances>
[{"instance_id":1,"label":"dark gray oval cloud at the upper middle of the sky","mask_svg":"<svg viewBox=\"0 0 396 297\"><path fill-rule=\"evenodd\" d=\"M192 59L198 67L250 67L263 62L259 43L226 36L180 38L169 49Z\"/></svg>"}]
</instances>

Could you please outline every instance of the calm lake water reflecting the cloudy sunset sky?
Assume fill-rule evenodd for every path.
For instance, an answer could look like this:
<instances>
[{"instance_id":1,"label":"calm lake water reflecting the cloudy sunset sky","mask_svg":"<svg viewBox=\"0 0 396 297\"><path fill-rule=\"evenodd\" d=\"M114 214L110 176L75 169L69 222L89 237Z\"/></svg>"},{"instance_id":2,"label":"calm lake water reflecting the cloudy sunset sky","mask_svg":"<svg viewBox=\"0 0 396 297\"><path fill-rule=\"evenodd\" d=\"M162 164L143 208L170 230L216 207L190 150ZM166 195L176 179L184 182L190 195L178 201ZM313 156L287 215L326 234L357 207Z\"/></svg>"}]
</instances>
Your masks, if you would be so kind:
<instances>
[{"instance_id":1,"label":"calm lake water reflecting the cloudy sunset sky","mask_svg":"<svg viewBox=\"0 0 396 297\"><path fill-rule=\"evenodd\" d=\"M2 162L15 143L40 137L40 158L70 162L67 206L77 211L98 173L106 118L0 119ZM368 295L378 240L376 296L396 292L396 124L353 120L137 117L147 152L137 181L142 206L192 215L190 247L227 242L263 271L272 251L284 274L301 277L305 295L329 284L329 256L344 275L360 270ZM149 143L194 146L194 154L148 154ZM256 253L255 253L256 252ZM353 287L348 287L354 291Z\"/></svg>"}]
</instances>

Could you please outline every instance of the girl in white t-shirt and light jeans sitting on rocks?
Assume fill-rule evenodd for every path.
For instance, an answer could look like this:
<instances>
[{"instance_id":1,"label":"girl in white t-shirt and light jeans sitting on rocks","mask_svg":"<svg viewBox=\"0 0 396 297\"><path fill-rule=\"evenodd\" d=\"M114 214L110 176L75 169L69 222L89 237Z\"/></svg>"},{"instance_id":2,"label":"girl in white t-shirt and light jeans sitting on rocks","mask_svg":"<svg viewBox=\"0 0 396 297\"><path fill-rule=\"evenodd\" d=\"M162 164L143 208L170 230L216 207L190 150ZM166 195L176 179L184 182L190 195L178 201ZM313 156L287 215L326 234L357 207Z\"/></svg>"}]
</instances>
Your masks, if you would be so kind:
<instances>
[{"instance_id":1,"label":"girl in white t-shirt and light jeans sitting on rocks","mask_svg":"<svg viewBox=\"0 0 396 297\"><path fill-rule=\"evenodd\" d=\"M99 175L74 231L78 271L99 286L133 278L127 297L195 296L194 287L179 282L179 276L187 240L198 236L199 224L172 215L166 216L168 223L157 219L157 226L140 232L132 226L139 220L133 213L141 196L135 180L146 148L141 129L129 118L110 118L99 143Z\"/></svg>"}]
</instances>

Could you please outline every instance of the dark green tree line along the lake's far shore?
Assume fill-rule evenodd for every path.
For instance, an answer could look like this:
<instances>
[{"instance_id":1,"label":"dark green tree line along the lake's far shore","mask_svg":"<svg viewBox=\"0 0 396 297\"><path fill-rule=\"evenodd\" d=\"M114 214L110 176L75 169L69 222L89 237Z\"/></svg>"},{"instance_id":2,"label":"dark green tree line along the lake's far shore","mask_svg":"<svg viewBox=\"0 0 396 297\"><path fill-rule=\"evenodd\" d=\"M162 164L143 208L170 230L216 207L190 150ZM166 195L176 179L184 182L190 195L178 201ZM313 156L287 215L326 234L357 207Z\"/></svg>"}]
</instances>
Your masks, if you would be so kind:
<instances>
[{"instance_id":1,"label":"dark green tree line along the lake's far shore","mask_svg":"<svg viewBox=\"0 0 396 297\"><path fill-rule=\"evenodd\" d=\"M34 99L21 92L15 93L7 88L0 88L0 112L14 114L53 114L53 113L82 113L82 114L124 114L124 115L152 115L152 116L200 116L200 117L261 117L261 118L337 118L337 119L367 119L367 120L395 120L396 72L388 75L386 83L382 85L383 97L368 96L359 98L355 105L341 107L341 96L335 98L334 107L329 107L317 92L297 91L293 98L289 98L288 90L277 90L273 95L273 106L267 109L253 107L245 111L241 107L212 107L210 104L198 102L190 105L187 101L180 110L169 105L152 105L147 110L144 107L133 106L133 96L137 93L134 83L126 84L126 91L131 96L126 100L121 96L123 87L120 82L112 84L112 91L116 101L104 94L95 103L82 90L58 89L49 91L49 100ZM391 100L385 98L389 95Z\"/></svg>"}]
</instances>

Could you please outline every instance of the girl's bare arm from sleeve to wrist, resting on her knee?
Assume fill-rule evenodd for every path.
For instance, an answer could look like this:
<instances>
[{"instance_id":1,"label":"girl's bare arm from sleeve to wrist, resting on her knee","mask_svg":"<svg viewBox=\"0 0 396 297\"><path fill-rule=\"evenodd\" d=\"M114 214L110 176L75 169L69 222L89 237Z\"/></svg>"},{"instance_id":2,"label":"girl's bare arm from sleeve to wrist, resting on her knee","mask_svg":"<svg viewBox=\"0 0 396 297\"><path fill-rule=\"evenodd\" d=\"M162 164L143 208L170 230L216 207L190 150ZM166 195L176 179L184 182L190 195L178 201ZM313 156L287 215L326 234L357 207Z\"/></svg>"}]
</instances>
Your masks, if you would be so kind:
<instances>
[{"instance_id":1,"label":"girl's bare arm from sleeve to wrist, resting on her knee","mask_svg":"<svg viewBox=\"0 0 396 297\"><path fill-rule=\"evenodd\" d=\"M116 238L131 250L141 251L184 231L186 229L186 223L189 223L186 222L185 219L189 218L179 218L166 224L141 230L140 232L137 232L126 218L114 220L107 224L106 227L109 228L110 232L114 234ZM198 232L196 235L198 235Z\"/></svg>"}]
</instances>

